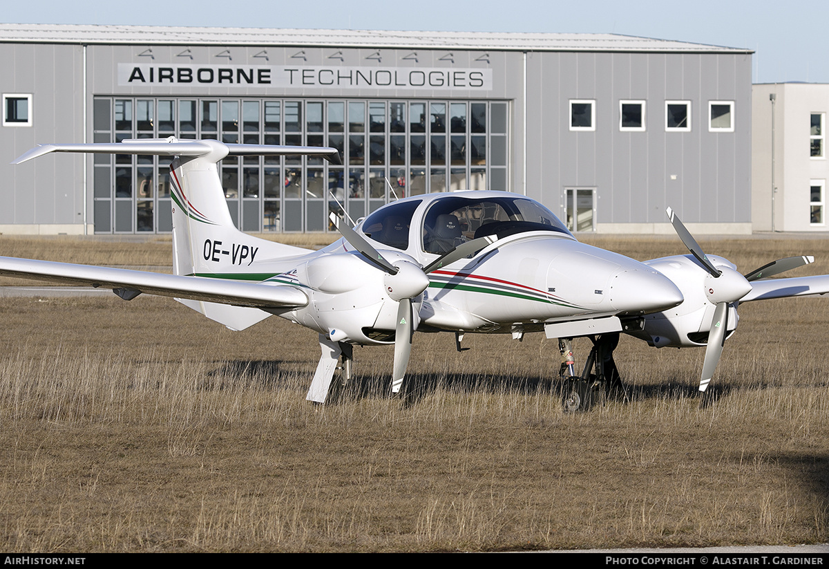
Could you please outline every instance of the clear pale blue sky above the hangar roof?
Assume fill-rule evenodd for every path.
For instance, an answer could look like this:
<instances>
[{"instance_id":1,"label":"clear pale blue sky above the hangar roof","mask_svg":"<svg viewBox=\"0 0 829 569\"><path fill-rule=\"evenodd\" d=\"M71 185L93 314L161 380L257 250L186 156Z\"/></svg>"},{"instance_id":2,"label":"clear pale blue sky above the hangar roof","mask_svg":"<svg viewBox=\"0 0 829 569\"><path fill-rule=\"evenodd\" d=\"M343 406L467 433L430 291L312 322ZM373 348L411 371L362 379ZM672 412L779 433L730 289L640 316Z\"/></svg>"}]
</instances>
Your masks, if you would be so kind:
<instances>
[{"instance_id":1,"label":"clear pale blue sky above the hangar roof","mask_svg":"<svg viewBox=\"0 0 829 569\"><path fill-rule=\"evenodd\" d=\"M829 2L788 0L39 0L5 23L617 33L754 50L754 83L829 83Z\"/></svg>"}]
</instances>

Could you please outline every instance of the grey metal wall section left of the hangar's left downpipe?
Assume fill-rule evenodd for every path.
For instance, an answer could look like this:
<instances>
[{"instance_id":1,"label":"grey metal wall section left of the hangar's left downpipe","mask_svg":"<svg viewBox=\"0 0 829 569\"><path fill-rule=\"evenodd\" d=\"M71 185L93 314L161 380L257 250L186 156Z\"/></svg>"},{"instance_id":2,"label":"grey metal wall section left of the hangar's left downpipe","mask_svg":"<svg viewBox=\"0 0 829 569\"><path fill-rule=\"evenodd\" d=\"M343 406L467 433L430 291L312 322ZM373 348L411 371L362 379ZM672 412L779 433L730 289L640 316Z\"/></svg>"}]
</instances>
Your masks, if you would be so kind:
<instances>
[{"instance_id":1,"label":"grey metal wall section left of the hangar's left downpipe","mask_svg":"<svg viewBox=\"0 0 829 569\"><path fill-rule=\"evenodd\" d=\"M32 126L4 127L0 137L0 224L82 223L83 159L48 157L9 164L37 143L84 140L83 50L73 45L0 44L0 92L32 95ZM68 159L67 159L68 158Z\"/></svg>"}]
</instances>

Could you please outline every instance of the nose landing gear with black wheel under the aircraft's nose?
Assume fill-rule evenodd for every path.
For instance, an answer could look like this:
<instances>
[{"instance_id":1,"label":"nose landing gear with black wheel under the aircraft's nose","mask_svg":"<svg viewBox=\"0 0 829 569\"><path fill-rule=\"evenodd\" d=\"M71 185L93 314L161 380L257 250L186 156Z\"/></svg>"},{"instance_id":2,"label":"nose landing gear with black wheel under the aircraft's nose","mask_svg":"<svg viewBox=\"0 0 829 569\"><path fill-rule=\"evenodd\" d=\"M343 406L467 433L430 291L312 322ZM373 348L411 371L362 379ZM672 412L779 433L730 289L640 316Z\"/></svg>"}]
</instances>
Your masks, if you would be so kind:
<instances>
[{"instance_id":1,"label":"nose landing gear with black wheel under the aircraft's nose","mask_svg":"<svg viewBox=\"0 0 829 569\"><path fill-rule=\"evenodd\" d=\"M572 338L560 338L560 376L562 380L562 405L565 411L587 411L600 397L618 390L624 393L613 350L619 343L619 334L606 333L589 336L593 348L584 362L580 376L574 375Z\"/></svg>"}]
</instances>

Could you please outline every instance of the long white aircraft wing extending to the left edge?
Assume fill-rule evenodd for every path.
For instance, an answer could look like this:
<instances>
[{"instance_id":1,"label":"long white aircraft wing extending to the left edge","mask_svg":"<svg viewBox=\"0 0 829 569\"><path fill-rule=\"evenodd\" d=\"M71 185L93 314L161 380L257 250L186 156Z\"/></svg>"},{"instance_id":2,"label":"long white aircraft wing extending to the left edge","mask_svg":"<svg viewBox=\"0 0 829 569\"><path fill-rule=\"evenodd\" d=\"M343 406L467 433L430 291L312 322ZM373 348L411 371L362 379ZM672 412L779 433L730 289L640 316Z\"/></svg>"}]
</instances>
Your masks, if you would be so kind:
<instances>
[{"instance_id":1,"label":"long white aircraft wing extending to the left edge","mask_svg":"<svg viewBox=\"0 0 829 569\"><path fill-rule=\"evenodd\" d=\"M260 309L289 309L308 304L308 297L303 291L289 285L263 285L196 276L162 275L141 270L72 265L49 260L0 257L0 275L103 287L112 289L115 294L126 300L144 293Z\"/></svg>"}]
</instances>

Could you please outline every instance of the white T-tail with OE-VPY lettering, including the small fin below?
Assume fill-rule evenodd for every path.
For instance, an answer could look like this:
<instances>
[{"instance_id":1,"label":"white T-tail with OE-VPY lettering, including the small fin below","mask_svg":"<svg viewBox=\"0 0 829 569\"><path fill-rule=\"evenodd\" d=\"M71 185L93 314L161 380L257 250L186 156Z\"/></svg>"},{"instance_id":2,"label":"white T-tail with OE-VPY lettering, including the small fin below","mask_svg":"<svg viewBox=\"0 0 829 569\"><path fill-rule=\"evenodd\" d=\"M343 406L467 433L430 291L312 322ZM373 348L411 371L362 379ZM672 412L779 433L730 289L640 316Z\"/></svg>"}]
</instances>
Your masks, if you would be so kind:
<instances>
[{"instance_id":1,"label":"white T-tail with OE-VPY lettering, including the small fin below","mask_svg":"<svg viewBox=\"0 0 829 569\"><path fill-rule=\"evenodd\" d=\"M335 148L227 144L216 140L135 139L121 143L43 144L22 163L51 152L141 154L175 157L170 166L173 272L227 280L264 280L256 265L307 255L308 250L249 236L236 229L217 163L226 156L308 155L340 163ZM207 318L241 330L270 316L260 309L178 299Z\"/></svg>"}]
</instances>

